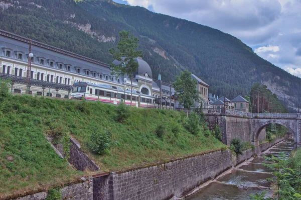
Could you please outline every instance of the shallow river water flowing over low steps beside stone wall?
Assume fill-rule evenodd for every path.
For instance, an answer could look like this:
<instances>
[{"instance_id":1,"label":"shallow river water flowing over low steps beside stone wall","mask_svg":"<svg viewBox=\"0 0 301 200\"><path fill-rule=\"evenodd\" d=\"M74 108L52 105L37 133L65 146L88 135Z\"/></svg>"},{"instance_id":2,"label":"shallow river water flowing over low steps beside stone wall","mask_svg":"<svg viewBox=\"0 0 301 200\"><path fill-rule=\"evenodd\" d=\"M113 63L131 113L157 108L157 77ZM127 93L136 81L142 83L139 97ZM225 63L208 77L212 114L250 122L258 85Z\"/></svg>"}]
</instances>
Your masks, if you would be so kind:
<instances>
[{"instance_id":1,"label":"shallow river water flowing over low steps beside stone wall","mask_svg":"<svg viewBox=\"0 0 301 200\"><path fill-rule=\"evenodd\" d=\"M293 148L293 140L288 139L270 148L265 155L277 156L280 152L289 155ZM257 156L243 165L238 165L230 173L212 181L185 200L250 199L250 194L261 193L264 190L267 190L267 196L271 196L271 182L266 178L272 177L272 174L271 170L262 164L264 162L267 161L263 156Z\"/></svg>"}]
</instances>

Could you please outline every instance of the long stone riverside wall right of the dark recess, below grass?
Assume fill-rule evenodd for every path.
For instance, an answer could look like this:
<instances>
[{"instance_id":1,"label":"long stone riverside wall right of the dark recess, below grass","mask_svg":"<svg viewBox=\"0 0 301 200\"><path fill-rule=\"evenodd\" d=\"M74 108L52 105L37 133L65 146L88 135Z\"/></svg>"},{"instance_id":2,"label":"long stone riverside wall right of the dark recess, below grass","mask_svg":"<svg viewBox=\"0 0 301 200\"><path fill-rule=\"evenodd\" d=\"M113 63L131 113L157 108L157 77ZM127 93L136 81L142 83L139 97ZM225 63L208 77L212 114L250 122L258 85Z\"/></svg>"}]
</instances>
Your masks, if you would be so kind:
<instances>
[{"instance_id":1,"label":"long stone riverside wall right of the dark recess, below grass","mask_svg":"<svg viewBox=\"0 0 301 200\"><path fill-rule=\"evenodd\" d=\"M230 150L112 173L113 199L170 199L181 196L231 167Z\"/></svg>"}]
</instances>

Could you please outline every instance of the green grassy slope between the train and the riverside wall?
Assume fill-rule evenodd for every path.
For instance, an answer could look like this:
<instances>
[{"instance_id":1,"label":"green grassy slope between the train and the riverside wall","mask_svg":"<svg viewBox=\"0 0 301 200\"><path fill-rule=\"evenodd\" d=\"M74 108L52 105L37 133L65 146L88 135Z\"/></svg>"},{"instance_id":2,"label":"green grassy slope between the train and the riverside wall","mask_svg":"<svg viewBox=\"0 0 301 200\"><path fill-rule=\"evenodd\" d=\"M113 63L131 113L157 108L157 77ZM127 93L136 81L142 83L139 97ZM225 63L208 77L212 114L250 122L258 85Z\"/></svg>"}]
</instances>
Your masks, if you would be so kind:
<instances>
[{"instance_id":1,"label":"green grassy slope between the train and the riverside wall","mask_svg":"<svg viewBox=\"0 0 301 200\"><path fill-rule=\"evenodd\" d=\"M121 124L115 120L115 110L116 106L100 102L9 96L0 111L0 196L83 174L59 158L47 143L47 134L74 136L101 171L124 170L224 146L213 136L189 133L182 125L183 112L132 108ZM167 129L159 138L155 129L162 123ZM173 132L176 126L179 131ZM104 128L120 145L102 156L90 153L91 132ZM9 156L14 160L9 161Z\"/></svg>"}]
</instances>

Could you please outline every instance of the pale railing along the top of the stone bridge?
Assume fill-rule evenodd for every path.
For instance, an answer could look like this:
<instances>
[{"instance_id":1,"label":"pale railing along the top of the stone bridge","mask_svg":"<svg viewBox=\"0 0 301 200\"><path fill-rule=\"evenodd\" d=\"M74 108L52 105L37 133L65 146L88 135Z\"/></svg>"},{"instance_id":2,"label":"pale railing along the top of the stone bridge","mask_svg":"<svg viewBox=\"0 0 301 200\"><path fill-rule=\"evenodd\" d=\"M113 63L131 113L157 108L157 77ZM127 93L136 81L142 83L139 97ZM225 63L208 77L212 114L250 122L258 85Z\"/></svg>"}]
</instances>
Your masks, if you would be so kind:
<instances>
[{"instance_id":1,"label":"pale railing along the top of the stone bridge","mask_svg":"<svg viewBox=\"0 0 301 200\"><path fill-rule=\"evenodd\" d=\"M204 113L223 113L223 108L203 108ZM301 118L301 113L251 113L243 112L233 109L225 109L225 114L236 116L249 116L249 117L266 117L266 118Z\"/></svg>"}]
</instances>

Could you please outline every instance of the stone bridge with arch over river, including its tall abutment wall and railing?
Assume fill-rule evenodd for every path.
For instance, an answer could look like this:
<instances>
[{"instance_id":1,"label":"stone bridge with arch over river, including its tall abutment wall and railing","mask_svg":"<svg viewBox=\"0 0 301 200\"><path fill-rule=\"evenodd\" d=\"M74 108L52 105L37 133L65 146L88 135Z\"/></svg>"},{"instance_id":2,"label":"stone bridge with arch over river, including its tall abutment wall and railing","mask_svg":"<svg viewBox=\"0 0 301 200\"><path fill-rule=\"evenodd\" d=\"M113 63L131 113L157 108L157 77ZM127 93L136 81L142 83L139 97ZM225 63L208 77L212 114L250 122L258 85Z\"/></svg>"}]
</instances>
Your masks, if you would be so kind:
<instances>
[{"instance_id":1,"label":"stone bridge with arch over river, including its tall abutment wall and railing","mask_svg":"<svg viewBox=\"0 0 301 200\"><path fill-rule=\"evenodd\" d=\"M296 147L301 145L301 114L248 113L235 110L206 110L205 115L211 130L219 125L223 142L230 145L233 138L250 141L255 146L265 139L265 127L271 123L285 126L293 135Z\"/></svg>"}]
</instances>

